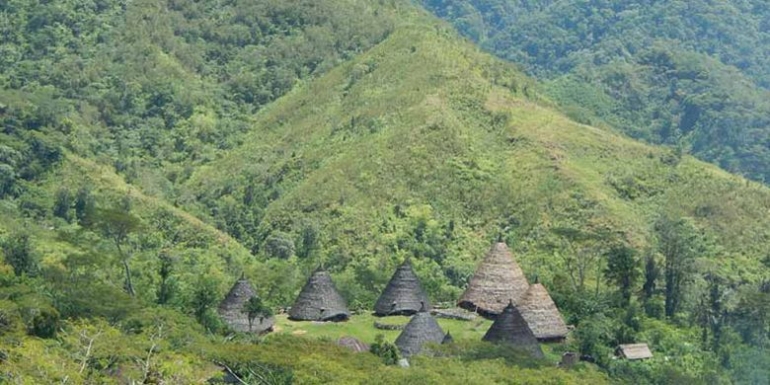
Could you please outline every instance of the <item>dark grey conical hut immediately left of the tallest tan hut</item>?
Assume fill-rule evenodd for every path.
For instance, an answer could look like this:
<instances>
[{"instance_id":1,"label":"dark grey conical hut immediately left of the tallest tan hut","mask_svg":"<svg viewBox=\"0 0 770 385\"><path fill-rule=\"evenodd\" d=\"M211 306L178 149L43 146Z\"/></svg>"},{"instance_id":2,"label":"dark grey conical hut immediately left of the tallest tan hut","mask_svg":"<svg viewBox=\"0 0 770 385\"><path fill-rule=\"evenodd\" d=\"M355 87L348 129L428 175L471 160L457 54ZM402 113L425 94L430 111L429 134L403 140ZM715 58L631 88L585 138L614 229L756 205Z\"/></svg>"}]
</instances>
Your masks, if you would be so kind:
<instances>
[{"instance_id":1,"label":"dark grey conical hut immediately left of the tallest tan hut","mask_svg":"<svg viewBox=\"0 0 770 385\"><path fill-rule=\"evenodd\" d=\"M423 303L430 310L428 295L422 289L420 280L407 259L393 273L388 286L374 305L374 315L412 315L420 310Z\"/></svg>"}]
</instances>

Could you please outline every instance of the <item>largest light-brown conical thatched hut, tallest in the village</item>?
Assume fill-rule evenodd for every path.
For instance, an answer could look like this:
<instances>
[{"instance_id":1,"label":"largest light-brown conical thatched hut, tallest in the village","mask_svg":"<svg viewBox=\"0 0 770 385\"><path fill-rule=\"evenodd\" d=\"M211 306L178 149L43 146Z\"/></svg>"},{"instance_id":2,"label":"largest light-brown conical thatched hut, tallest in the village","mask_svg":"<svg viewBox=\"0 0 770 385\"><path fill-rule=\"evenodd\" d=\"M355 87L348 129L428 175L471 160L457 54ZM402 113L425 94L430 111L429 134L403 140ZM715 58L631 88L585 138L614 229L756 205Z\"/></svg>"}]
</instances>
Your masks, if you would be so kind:
<instances>
[{"instance_id":1,"label":"largest light-brown conical thatched hut, tallest in the village","mask_svg":"<svg viewBox=\"0 0 770 385\"><path fill-rule=\"evenodd\" d=\"M508 301L516 303L528 288L527 278L508 246L497 242L476 269L457 305L494 319Z\"/></svg>"}]
</instances>

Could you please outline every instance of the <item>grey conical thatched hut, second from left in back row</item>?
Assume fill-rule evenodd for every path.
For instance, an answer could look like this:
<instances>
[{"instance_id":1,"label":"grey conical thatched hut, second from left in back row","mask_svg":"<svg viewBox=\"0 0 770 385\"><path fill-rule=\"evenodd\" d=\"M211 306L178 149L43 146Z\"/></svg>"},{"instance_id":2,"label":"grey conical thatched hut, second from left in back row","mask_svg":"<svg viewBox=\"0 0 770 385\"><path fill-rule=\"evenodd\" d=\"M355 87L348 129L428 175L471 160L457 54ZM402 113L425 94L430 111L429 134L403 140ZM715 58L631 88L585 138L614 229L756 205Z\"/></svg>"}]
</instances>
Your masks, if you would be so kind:
<instances>
[{"instance_id":1,"label":"grey conical thatched hut, second from left in back row","mask_svg":"<svg viewBox=\"0 0 770 385\"><path fill-rule=\"evenodd\" d=\"M347 321L347 304L334 287L332 278L323 269L316 270L305 283L289 310L293 321Z\"/></svg>"}]
</instances>

